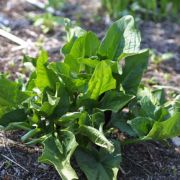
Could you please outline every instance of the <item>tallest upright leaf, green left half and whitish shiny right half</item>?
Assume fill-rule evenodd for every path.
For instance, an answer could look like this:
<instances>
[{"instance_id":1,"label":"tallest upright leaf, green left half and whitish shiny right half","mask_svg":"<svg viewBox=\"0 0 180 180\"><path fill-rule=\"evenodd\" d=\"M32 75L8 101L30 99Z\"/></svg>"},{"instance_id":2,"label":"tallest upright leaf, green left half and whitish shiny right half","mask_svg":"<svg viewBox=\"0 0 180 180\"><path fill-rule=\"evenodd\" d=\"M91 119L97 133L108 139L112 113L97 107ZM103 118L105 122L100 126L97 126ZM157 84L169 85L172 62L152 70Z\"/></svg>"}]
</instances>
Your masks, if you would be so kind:
<instances>
[{"instance_id":1,"label":"tallest upright leaf, green left half and whitish shiny right half","mask_svg":"<svg viewBox=\"0 0 180 180\"><path fill-rule=\"evenodd\" d=\"M137 53L140 41L140 34L135 28L134 18L129 15L124 16L109 28L98 53L106 59L115 61L124 53Z\"/></svg>"}]
</instances>

